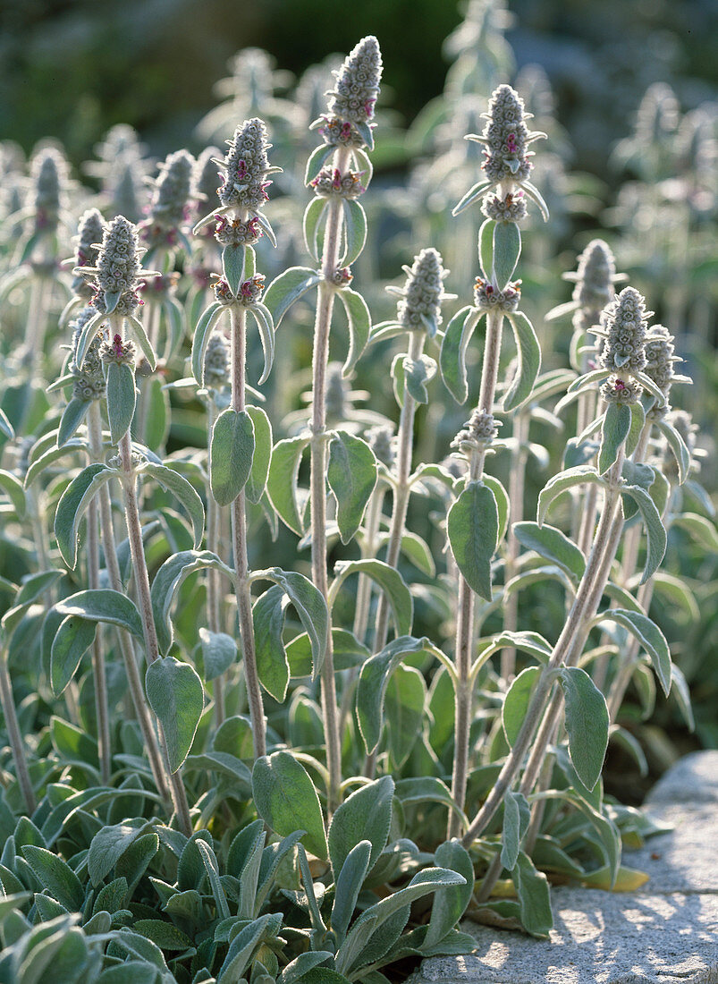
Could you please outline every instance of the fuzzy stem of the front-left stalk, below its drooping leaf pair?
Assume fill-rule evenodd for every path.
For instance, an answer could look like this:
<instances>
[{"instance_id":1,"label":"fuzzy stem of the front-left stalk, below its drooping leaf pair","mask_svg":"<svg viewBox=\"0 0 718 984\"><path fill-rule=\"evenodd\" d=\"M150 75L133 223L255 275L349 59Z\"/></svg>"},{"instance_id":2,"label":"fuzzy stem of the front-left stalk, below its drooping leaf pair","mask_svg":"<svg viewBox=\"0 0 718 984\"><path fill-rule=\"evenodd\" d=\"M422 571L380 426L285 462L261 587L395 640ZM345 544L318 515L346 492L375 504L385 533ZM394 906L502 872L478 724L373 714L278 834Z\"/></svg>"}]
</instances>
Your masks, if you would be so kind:
<instances>
[{"instance_id":1,"label":"fuzzy stem of the front-left stalk, below its drooping leaf pair","mask_svg":"<svg viewBox=\"0 0 718 984\"><path fill-rule=\"evenodd\" d=\"M145 559L145 544L142 536L142 522L140 520L140 509L137 502L137 477L132 463L132 443L130 432L128 431L121 438L118 451L120 463L122 465L122 491L125 500L125 522L127 523L127 534L130 541L130 554L132 556L132 567L135 575L135 588L140 607L140 617L143 625L143 636L145 638L145 654L148 664L159 658L159 646L157 644L157 633L154 628L154 617L152 614L152 603L150 599L150 576L148 565ZM192 836L192 819L190 808L187 803L187 793L182 775L177 770L172 772L169 769L167 760L166 742L162 725L157 721L160 748L162 758L169 774L169 787L172 796L172 805L177 814L177 819L182 832Z\"/></svg>"}]
</instances>

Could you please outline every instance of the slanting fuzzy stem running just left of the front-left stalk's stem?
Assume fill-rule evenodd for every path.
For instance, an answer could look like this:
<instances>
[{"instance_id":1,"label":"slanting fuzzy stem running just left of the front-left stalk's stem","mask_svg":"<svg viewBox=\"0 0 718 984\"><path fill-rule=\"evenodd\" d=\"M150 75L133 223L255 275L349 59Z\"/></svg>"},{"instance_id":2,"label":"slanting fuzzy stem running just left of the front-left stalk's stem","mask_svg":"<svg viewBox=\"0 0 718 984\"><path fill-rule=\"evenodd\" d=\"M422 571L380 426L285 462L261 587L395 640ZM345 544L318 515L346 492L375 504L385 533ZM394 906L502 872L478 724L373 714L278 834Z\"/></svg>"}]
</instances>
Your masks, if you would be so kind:
<instances>
[{"instance_id":1,"label":"slanting fuzzy stem running just left of the front-left stalk's stem","mask_svg":"<svg viewBox=\"0 0 718 984\"><path fill-rule=\"evenodd\" d=\"M90 457L93 461L102 460L102 417L100 415L99 403L92 401L88 414L88 443L90 446ZM125 585L122 582L120 565L117 560L117 544L115 542L115 531L112 523L112 503L110 500L109 488L103 485L97 493L97 503L99 507L99 528L104 546L105 566L109 578L110 587L114 591L125 593ZM120 654L125 666L125 675L130 688L132 703L135 707L140 730L142 731L147 752L150 770L154 778L157 791L164 800L167 809L171 808L171 797L169 792L169 770L165 769L162 757L157 744L157 737L152 728L150 709L145 700L145 690L140 679L140 671L135 658L135 649L132 639L124 629L117 629L117 639L120 645Z\"/></svg>"}]
</instances>

